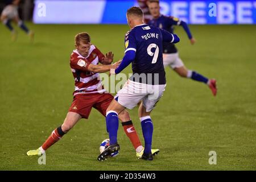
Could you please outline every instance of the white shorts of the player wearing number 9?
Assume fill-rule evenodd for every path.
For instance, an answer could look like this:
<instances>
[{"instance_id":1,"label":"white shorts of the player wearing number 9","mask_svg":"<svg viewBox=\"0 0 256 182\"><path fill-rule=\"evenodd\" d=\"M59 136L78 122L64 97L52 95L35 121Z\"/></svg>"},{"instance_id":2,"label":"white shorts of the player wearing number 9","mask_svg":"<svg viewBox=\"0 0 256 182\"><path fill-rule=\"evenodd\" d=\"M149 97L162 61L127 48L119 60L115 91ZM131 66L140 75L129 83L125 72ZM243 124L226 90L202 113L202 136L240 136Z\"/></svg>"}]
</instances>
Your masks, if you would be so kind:
<instances>
[{"instance_id":1,"label":"white shorts of the player wearing number 9","mask_svg":"<svg viewBox=\"0 0 256 182\"><path fill-rule=\"evenodd\" d=\"M127 80L115 95L115 100L128 109L133 109L139 101L142 101L146 111L149 112L163 96L165 87L166 85L148 85Z\"/></svg>"}]
</instances>

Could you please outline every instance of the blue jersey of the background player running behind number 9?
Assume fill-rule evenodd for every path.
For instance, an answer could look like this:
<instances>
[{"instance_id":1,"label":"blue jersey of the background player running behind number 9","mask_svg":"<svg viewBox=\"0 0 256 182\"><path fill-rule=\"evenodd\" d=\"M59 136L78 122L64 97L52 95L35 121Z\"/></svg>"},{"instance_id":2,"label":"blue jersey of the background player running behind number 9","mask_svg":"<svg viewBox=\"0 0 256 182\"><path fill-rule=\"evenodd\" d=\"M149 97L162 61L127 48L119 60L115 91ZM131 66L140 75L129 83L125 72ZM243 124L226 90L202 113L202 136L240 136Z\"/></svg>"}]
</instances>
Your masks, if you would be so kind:
<instances>
[{"instance_id":1,"label":"blue jersey of the background player running behind number 9","mask_svg":"<svg viewBox=\"0 0 256 182\"><path fill-rule=\"evenodd\" d=\"M163 28L164 30L174 33L174 26L179 26L181 21L172 16L160 15L157 19L151 19L148 25ZM177 49L174 44L163 43L163 53L176 53Z\"/></svg>"}]
</instances>

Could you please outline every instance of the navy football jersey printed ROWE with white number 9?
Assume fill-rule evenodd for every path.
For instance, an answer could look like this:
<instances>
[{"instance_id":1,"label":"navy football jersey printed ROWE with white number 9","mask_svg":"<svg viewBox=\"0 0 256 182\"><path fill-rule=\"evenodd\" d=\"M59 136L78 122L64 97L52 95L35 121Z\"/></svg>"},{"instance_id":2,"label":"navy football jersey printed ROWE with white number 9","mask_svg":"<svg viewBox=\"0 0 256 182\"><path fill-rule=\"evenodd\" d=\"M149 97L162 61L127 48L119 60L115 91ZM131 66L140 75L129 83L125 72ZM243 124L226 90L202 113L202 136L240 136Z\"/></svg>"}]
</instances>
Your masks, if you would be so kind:
<instances>
[{"instance_id":1,"label":"navy football jersey printed ROWE with white number 9","mask_svg":"<svg viewBox=\"0 0 256 182\"><path fill-rule=\"evenodd\" d=\"M173 35L147 24L135 26L126 33L125 52L136 52L135 60L132 62L133 76L130 80L151 85L166 84L162 52L163 41L169 40L170 42L172 40L170 36ZM164 39L168 37L168 39L164 40L163 37ZM137 80L138 75L146 75L146 82L143 79Z\"/></svg>"}]
</instances>

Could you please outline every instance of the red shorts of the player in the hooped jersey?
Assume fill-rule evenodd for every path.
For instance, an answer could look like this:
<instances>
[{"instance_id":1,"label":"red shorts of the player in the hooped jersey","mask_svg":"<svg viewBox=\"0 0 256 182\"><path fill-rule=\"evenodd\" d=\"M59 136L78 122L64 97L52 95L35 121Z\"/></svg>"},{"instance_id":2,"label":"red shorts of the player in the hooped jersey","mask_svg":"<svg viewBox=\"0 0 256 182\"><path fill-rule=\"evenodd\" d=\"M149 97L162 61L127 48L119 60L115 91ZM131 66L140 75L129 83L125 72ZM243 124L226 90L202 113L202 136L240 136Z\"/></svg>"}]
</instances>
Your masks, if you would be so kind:
<instances>
[{"instance_id":1,"label":"red shorts of the player in the hooped jersey","mask_svg":"<svg viewBox=\"0 0 256 182\"><path fill-rule=\"evenodd\" d=\"M68 111L80 114L82 118L88 119L90 110L94 107L105 117L106 109L113 98L110 93L77 94L73 98L73 103Z\"/></svg>"}]
</instances>

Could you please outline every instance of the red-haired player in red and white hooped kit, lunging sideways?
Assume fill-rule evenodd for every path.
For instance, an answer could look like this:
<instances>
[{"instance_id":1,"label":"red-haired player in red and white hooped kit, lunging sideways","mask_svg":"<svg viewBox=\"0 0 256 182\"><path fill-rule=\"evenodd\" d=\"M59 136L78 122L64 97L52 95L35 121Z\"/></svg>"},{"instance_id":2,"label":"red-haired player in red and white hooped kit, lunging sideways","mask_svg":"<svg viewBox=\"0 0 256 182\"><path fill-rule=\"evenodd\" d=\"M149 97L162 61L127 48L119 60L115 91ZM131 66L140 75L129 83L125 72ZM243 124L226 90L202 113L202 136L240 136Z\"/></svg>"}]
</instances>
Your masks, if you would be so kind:
<instances>
[{"instance_id":1,"label":"red-haired player in red and white hooped kit, lunging sideways","mask_svg":"<svg viewBox=\"0 0 256 182\"><path fill-rule=\"evenodd\" d=\"M82 32L75 36L76 49L71 54L70 66L75 79L75 92L73 102L69 107L63 125L52 131L48 139L36 150L30 150L27 155L42 155L44 152L63 137L81 119L88 119L92 107L106 115L106 109L113 100L112 94L106 92L101 84L100 73L108 72L118 67L119 62L113 62L113 54L109 52L104 56L99 49L90 43L90 36ZM101 64L98 64L101 63ZM127 137L133 143L137 156L143 154L138 134L134 129L129 113L124 110L119 119ZM153 150L157 154L159 150Z\"/></svg>"}]
</instances>

